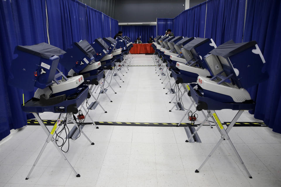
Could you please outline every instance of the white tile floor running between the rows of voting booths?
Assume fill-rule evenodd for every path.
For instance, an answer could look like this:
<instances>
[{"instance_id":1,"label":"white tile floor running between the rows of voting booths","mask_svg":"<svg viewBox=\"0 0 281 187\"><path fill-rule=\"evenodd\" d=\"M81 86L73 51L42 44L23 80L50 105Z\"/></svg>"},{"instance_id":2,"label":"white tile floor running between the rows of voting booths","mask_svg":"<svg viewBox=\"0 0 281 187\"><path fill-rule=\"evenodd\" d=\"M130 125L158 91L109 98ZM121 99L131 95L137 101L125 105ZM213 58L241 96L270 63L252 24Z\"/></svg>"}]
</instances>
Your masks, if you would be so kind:
<instances>
[{"instance_id":1,"label":"white tile floor running between the rows of voting booths","mask_svg":"<svg viewBox=\"0 0 281 187\"><path fill-rule=\"evenodd\" d=\"M152 65L151 56L133 55L131 65ZM184 112L173 110L155 67L129 67L121 88L112 81L117 94L108 90L99 101L108 113L90 110L95 121L179 122ZM166 80L167 81L167 80ZM166 83L164 82L164 84ZM96 93L97 95L97 93ZM92 101L92 100L91 100ZM185 107L190 104L183 97ZM194 109L191 109L194 110ZM198 113L198 123L203 115ZM235 111L217 111L221 121L230 121ZM43 113L42 119L56 119ZM239 119L260 122L248 112ZM87 119L87 122L89 120ZM185 119L184 122L187 122ZM71 128L71 125L69 125ZM51 128L49 126L49 128ZM195 173L219 140L216 128L203 126L198 134L202 143L186 143L183 127L130 127L86 125L83 130L95 145L81 135L70 141L66 156L77 178L52 144L48 145L30 178L25 180L45 140L40 126L12 131L0 141L1 186L281 186L281 134L268 127L233 127L229 136L252 174L249 179L224 141L200 173Z\"/></svg>"}]
</instances>

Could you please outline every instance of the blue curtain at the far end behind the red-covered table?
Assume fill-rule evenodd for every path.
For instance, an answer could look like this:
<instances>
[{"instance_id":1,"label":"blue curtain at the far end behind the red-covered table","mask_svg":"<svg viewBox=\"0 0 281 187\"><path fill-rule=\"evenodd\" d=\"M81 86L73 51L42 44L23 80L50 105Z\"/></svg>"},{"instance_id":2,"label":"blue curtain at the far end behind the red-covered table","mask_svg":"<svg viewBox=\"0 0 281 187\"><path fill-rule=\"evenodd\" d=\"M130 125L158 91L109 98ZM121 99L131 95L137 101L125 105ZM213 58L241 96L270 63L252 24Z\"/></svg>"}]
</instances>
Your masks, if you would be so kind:
<instances>
[{"instance_id":1,"label":"blue curtain at the far end behind the red-covered table","mask_svg":"<svg viewBox=\"0 0 281 187\"><path fill-rule=\"evenodd\" d=\"M119 26L123 36L128 36L134 42L138 37L143 43L147 43L149 37L156 37L156 25L132 25Z\"/></svg>"}]
</instances>

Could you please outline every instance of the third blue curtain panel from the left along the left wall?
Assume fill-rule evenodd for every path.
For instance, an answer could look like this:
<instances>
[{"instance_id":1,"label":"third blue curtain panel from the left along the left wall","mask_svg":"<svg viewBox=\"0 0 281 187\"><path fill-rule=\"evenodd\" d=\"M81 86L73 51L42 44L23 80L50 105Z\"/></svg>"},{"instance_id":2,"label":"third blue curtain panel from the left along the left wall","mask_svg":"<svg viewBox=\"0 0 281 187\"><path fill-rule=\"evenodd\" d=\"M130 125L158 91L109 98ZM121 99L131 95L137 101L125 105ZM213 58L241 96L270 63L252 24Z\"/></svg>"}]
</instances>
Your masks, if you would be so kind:
<instances>
[{"instance_id":1,"label":"third blue curtain panel from the left along the left wall","mask_svg":"<svg viewBox=\"0 0 281 187\"><path fill-rule=\"evenodd\" d=\"M88 13L88 35L89 43L93 42L96 38L103 37L103 21L102 12L87 6Z\"/></svg>"}]
</instances>

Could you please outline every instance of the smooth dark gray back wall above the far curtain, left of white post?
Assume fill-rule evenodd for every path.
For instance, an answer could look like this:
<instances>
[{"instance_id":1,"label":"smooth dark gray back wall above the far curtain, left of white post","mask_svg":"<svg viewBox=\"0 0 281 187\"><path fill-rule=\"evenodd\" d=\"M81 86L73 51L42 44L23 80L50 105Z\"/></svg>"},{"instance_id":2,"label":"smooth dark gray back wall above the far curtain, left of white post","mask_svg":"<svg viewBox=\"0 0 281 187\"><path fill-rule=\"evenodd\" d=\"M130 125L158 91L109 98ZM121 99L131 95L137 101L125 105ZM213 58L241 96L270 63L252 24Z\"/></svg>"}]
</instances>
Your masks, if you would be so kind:
<instances>
[{"instance_id":1,"label":"smooth dark gray back wall above the far curtain, left of white post","mask_svg":"<svg viewBox=\"0 0 281 187\"><path fill-rule=\"evenodd\" d=\"M185 9L185 0L116 1L114 19L119 22L156 22L156 18L174 18Z\"/></svg>"}]
</instances>

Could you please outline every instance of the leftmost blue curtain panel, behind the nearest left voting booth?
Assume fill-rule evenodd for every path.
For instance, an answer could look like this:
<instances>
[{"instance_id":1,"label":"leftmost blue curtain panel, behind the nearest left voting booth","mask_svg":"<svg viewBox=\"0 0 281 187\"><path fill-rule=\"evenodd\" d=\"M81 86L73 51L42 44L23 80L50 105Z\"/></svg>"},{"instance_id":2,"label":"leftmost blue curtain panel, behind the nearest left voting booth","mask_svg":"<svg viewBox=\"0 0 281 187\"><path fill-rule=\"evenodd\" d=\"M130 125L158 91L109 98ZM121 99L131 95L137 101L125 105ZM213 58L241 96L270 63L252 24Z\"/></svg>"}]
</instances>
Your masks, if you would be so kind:
<instances>
[{"instance_id":1,"label":"leftmost blue curtain panel, behind the nearest left voting booth","mask_svg":"<svg viewBox=\"0 0 281 187\"><path fill-rule=\"evenodd\" d=\"M11 129L27 125L26 113L21 110L23 93L25 101L33 93L11 87L7 81L17 45L48 42L45 8L45 0L0 1L0 139Z\"/></svg>"}]
</instances>

